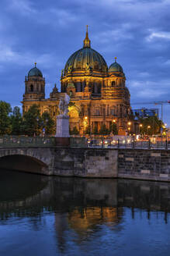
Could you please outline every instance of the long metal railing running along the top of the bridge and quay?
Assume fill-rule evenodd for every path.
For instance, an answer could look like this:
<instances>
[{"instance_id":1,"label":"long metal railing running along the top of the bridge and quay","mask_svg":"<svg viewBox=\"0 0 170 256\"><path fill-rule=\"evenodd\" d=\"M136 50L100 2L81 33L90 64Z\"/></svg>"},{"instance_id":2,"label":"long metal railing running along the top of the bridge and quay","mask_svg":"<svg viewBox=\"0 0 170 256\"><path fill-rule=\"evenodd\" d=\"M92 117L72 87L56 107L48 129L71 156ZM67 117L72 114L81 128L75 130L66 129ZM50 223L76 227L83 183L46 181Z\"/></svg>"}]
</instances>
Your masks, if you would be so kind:
<instances>
[{"instance_id":1,"label":"long metal railing running along the top of the bridge and quay","mask_svg":"<svg viewBox=\"0 0 170 256\"><path fill-rule=\"evenodd\" d=\"M107 142L107 143L106 143ZM26 137L0 136L0 148L136 148L136 149L170 149L170 140L87 140L85 137Z\"/></svg>"}]
</instances>

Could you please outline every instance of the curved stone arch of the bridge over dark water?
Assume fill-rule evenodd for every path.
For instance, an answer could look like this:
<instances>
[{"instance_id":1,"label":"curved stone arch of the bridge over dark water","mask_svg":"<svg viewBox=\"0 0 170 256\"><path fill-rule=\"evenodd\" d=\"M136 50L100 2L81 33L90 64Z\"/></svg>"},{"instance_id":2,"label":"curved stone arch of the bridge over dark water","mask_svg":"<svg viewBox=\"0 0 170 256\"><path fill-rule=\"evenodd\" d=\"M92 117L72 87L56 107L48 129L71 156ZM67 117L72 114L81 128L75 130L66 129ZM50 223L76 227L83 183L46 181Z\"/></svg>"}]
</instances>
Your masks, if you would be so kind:
<instances>
[{"instance_id":1,"label":"curved stone arch of the bridge over dark water","mask_svg":"<svg viewBox=\"0 0 170 256\"><path fill-rule=\"evenodd\" d=\"M50 175L51 159L43 153L38 148L0 149L0 169Z\"/></svg>"}]
</instances>

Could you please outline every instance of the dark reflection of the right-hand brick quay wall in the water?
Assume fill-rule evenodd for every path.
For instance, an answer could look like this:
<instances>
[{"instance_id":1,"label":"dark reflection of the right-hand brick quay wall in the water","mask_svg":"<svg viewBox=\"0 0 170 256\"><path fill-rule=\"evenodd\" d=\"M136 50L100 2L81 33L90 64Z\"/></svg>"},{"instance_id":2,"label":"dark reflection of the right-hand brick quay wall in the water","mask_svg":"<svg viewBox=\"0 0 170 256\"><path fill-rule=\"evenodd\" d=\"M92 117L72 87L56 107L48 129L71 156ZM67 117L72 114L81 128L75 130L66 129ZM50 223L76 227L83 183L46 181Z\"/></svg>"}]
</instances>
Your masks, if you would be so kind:
<instances>
[{"instance_id":1,"label":"dark reflection of the right-hand brick quay wall in the water","mask_svg":"<svg viewBox=\"0 0 170 256\"><path fill-rule=\"evenodd\" d=\"M139 180L118 181L118 204L123 207L130 207L134 218L134 208L147 211L147 218L150 219L151 211L165 213L170 212L170 183L147 182Z\"/></svg>"}]
</instances>

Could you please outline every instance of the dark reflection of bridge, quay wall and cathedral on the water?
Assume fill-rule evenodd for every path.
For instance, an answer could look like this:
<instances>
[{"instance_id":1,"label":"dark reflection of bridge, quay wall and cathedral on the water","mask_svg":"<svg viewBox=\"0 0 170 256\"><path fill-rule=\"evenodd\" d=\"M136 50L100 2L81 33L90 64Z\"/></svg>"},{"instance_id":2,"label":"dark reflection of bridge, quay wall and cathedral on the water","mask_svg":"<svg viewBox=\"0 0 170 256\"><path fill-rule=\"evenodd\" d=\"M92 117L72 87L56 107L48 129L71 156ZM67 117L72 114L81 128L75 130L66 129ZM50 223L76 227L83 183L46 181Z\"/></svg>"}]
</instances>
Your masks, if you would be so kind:
<instances>
[{"instance_id":1,"label":"dark reflection of bridge, quay wall and cathedral on the water","mask_svg":"<svg viewBox=\"0 0 170 256\"><path fill-rule=\"evenodd\" d=\"M4 180L0 179L1 222L7 223L13 216L27 217L31 228L36 230L48 225L44 214L46 219L49 215L61 252L68 250L68 234L71 243L74 240L80 246L94 236L102 236L101 230L105 227L110 232L120 233L127 209L132 219L136 218L137 211L144 212L147 219L152 218L152 212L157 212L157 218L168 222L168 183L59 178L22 172L8 174L8 186ZM134 211L135 208L138 210Z\"/></svg>"}]
</instances>

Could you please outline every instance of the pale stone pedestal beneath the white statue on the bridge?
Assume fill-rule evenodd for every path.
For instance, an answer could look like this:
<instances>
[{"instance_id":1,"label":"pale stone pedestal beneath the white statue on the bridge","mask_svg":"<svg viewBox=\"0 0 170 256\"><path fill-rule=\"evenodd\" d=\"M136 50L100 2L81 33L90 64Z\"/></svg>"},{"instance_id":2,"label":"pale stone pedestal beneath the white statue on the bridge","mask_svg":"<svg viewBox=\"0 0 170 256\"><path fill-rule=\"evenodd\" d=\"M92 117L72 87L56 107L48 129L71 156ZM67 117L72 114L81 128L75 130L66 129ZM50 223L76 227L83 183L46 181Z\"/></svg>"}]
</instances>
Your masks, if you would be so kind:
<instances>
[{"instance_id":1,"label":"pale stone pedestal beneath the white statue on the bridge","mask_svg":"<svg viewBox=\"0 0 170 256\"><path fill-rule=\"evenodd\" d=\"M56 136L55 137L70 137L69 134L69 116L57 116Z\"/></svg>"}]
</instances>

